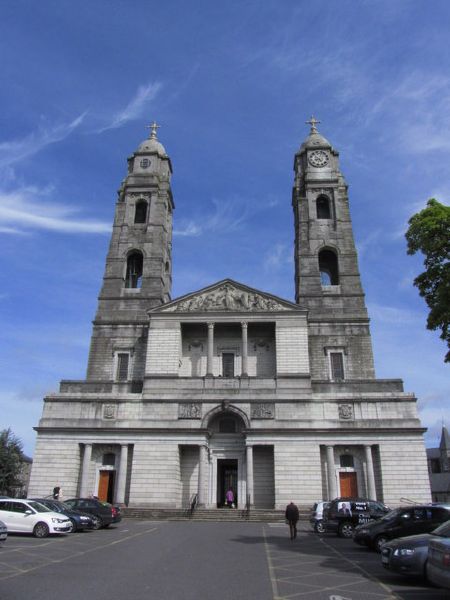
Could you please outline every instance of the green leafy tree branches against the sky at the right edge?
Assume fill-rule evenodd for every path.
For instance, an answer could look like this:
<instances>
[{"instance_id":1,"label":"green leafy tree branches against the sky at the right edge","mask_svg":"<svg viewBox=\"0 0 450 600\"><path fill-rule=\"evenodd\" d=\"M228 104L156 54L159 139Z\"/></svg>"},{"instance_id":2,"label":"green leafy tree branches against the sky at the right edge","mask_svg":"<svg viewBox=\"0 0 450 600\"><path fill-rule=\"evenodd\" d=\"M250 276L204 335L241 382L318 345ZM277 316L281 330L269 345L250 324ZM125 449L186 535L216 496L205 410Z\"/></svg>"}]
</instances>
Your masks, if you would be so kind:
<instances>
[{"instance_id":1,"label":"green leafy tree branches against the sky at the right edge","mask_svg":"<svg viewBox=\"0 0 450 600\"><path fill-rule=\"evenodd\" d=\"M430 308L427 328L441 330L449 348L444 360L450 362L450 206L428 200L409 220L406 241L408 254L420 251L425 256L425 271L414 285Z\"/></svg>"}]
</instances>

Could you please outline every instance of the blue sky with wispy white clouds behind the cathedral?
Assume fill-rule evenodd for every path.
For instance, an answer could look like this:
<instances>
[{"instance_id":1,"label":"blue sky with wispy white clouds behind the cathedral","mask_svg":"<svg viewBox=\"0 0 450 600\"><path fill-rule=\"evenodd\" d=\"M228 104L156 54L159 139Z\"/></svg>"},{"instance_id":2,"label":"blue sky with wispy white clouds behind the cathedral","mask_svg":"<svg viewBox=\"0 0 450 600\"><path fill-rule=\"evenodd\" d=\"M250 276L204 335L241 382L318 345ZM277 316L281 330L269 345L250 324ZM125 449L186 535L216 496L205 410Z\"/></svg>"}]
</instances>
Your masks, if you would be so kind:
<instances>
[{"instance_id":1,"label":"blue sky with wispy white clouds behind the cathedral","mask_svg":"<svg viewBox=\"0 0 450 600\"><path fill-rule=\"evenodd\" d=\"M43 396L85 376L116 190L153 119L172 297L231 277L293 299L292 166L314 114L350 186L377 376L416 393L437 445L449 367L404 232L449 202L449 28L445 0L2 3L0 428L32 455Z\"/></svg>"}]
</instances>

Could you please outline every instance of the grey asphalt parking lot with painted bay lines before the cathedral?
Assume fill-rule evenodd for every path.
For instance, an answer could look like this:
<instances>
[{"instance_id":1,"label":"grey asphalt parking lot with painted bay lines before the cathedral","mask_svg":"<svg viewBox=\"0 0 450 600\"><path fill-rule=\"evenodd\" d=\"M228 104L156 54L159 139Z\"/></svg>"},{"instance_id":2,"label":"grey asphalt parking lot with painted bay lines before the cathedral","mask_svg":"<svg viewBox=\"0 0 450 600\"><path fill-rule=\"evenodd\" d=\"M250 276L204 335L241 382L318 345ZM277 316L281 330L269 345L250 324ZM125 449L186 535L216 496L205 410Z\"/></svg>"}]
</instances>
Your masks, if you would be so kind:
<instances>
[{"instance_id":1,"label":"grey asphalt parking lot with painted bay lines before the cathedral","mask_svg":"<svg viewBox=\"0 0 450 600\"><path fill-rule=\"evenodd\" d=\"M444 600L380 556L302 524L150 522L60 537L10 535L1 600Z\"/></svg>"}]
</instances>

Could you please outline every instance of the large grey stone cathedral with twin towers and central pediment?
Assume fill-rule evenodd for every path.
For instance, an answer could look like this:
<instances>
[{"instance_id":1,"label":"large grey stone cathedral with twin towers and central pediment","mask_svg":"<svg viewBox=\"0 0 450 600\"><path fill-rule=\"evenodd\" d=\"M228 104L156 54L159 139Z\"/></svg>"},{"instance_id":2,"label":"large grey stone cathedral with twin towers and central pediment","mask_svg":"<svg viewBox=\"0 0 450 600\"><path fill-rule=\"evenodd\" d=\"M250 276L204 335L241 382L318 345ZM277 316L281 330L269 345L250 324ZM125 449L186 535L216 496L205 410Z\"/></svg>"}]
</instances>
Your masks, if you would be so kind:
<instances>
[{"instance_id":1,"label":"large grey stone cathedral with twin towers and central pediment","mask_svg":"<svg viewBox=\"0 0 450 600\"><path fill-rule=\"evenodd\" d=\"M294 156L295 302L232 279L171 298L172 164L153 124L119 189L86 379L44 399L30 496L431 501L416 398L375 376L339 153L308 123Z\"/></svg>"}]
</instances>

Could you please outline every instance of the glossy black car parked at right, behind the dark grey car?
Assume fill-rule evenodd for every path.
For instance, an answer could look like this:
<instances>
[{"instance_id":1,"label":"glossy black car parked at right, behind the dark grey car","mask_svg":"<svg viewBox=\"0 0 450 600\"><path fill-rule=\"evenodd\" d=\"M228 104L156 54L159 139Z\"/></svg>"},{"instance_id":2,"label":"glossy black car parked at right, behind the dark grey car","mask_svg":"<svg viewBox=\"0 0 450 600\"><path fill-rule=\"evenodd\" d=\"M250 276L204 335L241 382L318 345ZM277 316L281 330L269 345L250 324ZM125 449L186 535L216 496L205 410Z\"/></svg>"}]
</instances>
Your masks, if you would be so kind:
<instances>
[{"instance_id":1,"label":"glossy black car parked at right, behind the dark grey car","mask_svg":"<svg viewBox=\"0 0 450 600\"><path fill-rule=\"evenodd\" d=\"M430 504L401 506L391 510L380 521L355 529L353 541L381 552L381 546L397 537L430 533L450 519L450 509Z\"/></svg>"}]
</instances>

